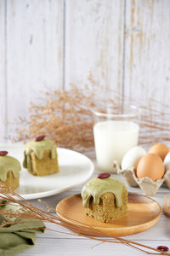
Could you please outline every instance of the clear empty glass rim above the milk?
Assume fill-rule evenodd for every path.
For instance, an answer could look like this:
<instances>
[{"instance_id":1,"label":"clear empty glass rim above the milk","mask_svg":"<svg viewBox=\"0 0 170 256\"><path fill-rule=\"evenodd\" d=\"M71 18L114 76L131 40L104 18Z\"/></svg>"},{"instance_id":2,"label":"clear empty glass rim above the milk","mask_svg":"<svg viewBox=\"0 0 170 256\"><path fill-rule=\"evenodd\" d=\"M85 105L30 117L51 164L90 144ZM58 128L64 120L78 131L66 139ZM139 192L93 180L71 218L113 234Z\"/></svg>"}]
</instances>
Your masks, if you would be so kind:
<instances>
[{"instance_id":1,"label":"clear empty glass rim above the milk","mask_svg":"<svg viewBox=\"0 0 170 256\"><path fill-rule=\"evenodd\" d=\"M123 107L125 108L126 105ZM97 108L94 108L92 109L92 112L96 115L96 116L99 116L99 117L107 117L107 118L113 118L113 117L116 117L116 118L132 118L132 117L135 117L135 116L138 116L141 114L141 108L137 107L137 106L134 106L134 105L130 105L128 106L129 108L129 111L132 109L133 111L136 110L137 112L136 113L102 113L102 112L99 112L97 110ZM96 110L95 110L96 109Z\"/></svg>"}]
</instances>

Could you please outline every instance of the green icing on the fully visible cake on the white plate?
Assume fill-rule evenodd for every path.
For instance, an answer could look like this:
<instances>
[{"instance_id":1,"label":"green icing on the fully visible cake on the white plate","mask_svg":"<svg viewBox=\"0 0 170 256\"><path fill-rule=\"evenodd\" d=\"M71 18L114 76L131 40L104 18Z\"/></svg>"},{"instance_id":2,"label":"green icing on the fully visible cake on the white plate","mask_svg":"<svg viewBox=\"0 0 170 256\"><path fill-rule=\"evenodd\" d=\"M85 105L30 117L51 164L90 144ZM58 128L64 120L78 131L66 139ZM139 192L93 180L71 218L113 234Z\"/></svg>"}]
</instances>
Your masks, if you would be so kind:
<instances>
[{"instance_id":1,"label":"green icing on the fully visible cake on the white plate","mask_svg":"<svg viewBox=\"0 0 170 256\"><path fill-rule=\"evenodd\" d=\"M34 151L37 158L40 160L43 157L43 153L45 150L51 151L51 158L55 158L56 154L56 145L54 142L43 139L40 142L31 141L26 143L24 148L24 161L23 166L28 169L29 172L32 172L32 165L31 165L31 152Z\"/></svg>"}]
</instances>

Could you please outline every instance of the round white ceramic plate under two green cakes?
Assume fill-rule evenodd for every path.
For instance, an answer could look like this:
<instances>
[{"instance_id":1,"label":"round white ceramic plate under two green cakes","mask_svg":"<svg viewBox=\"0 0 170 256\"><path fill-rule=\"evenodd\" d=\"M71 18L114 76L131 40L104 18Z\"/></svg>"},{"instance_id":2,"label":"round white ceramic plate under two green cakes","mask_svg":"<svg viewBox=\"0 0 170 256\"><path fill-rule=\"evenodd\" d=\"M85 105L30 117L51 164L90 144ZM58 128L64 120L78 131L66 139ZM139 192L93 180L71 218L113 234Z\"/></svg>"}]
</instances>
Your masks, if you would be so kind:
<instances>
[{"instance_id":1,"label":"round white ceramic plate under two green cakes","mask_svg":"<svg viewBox=\"0 0 170 256\"><path fill-rule=\"evenodd\" d=\"M0 150L7 150L8 155L20 160L22 166L24 158L23 145L1 144ZM94 164L87 156L65 148L57 148L57 152L59 156L59 173L36 177L22 167L20 171L20 187L15 192L26 200L36 199L72 189L91 177L94 172Z\"/></svg>"}]
</instances>

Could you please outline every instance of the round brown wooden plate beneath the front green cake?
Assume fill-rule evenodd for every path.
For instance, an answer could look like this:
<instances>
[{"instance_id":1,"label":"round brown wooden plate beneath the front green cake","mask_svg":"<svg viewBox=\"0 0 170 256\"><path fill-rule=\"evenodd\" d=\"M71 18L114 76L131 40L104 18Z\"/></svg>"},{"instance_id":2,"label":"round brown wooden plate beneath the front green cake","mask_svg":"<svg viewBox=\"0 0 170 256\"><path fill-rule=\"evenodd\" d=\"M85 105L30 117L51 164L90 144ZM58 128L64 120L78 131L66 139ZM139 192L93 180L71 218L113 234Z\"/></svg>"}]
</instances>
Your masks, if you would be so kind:
<instances>
[{"instance_id":1,"label":"round brown wooden plate beneath the front green cake","mask_svg":"<svg viewBox=\"0 0 170 256\"><path fill-rule=\"evenodd\" d=\"M127 217L102 223L88 217L82 206L81 195L71 195L56 207L65 226L89 236L128 236L150 229L161 216L160 205L148 196L129 193Z\"/></svg>"}]
</instances>

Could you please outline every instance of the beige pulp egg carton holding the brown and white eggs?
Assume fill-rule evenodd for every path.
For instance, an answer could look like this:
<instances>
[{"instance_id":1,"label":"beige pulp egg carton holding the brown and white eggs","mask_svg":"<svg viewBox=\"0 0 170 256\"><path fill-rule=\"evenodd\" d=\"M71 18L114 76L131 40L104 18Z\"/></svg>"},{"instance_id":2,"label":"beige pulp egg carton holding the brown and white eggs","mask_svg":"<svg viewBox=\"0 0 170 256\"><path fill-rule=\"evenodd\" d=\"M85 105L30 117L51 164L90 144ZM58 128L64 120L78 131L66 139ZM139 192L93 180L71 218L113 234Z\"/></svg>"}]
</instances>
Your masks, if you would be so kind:
<instances>
[{"instance_id":1,"label":"beige pulp egg carton holding the brown and white eggs","mask_svg":"<svg viewBox=\"0 0 170 256\"><path fill-rule=\"evenodd\" d=\"M167 184L167 188L170 189L170 170L167 170L164 176L156 181L153 181L150 177L136 177L134 167L127 170L121 170L118 168L117 173L121 174L122 177L125 178L130 187L139 187L145 195L156 195L157 190L164 182Z\"/></svg>"}]
</instances>

